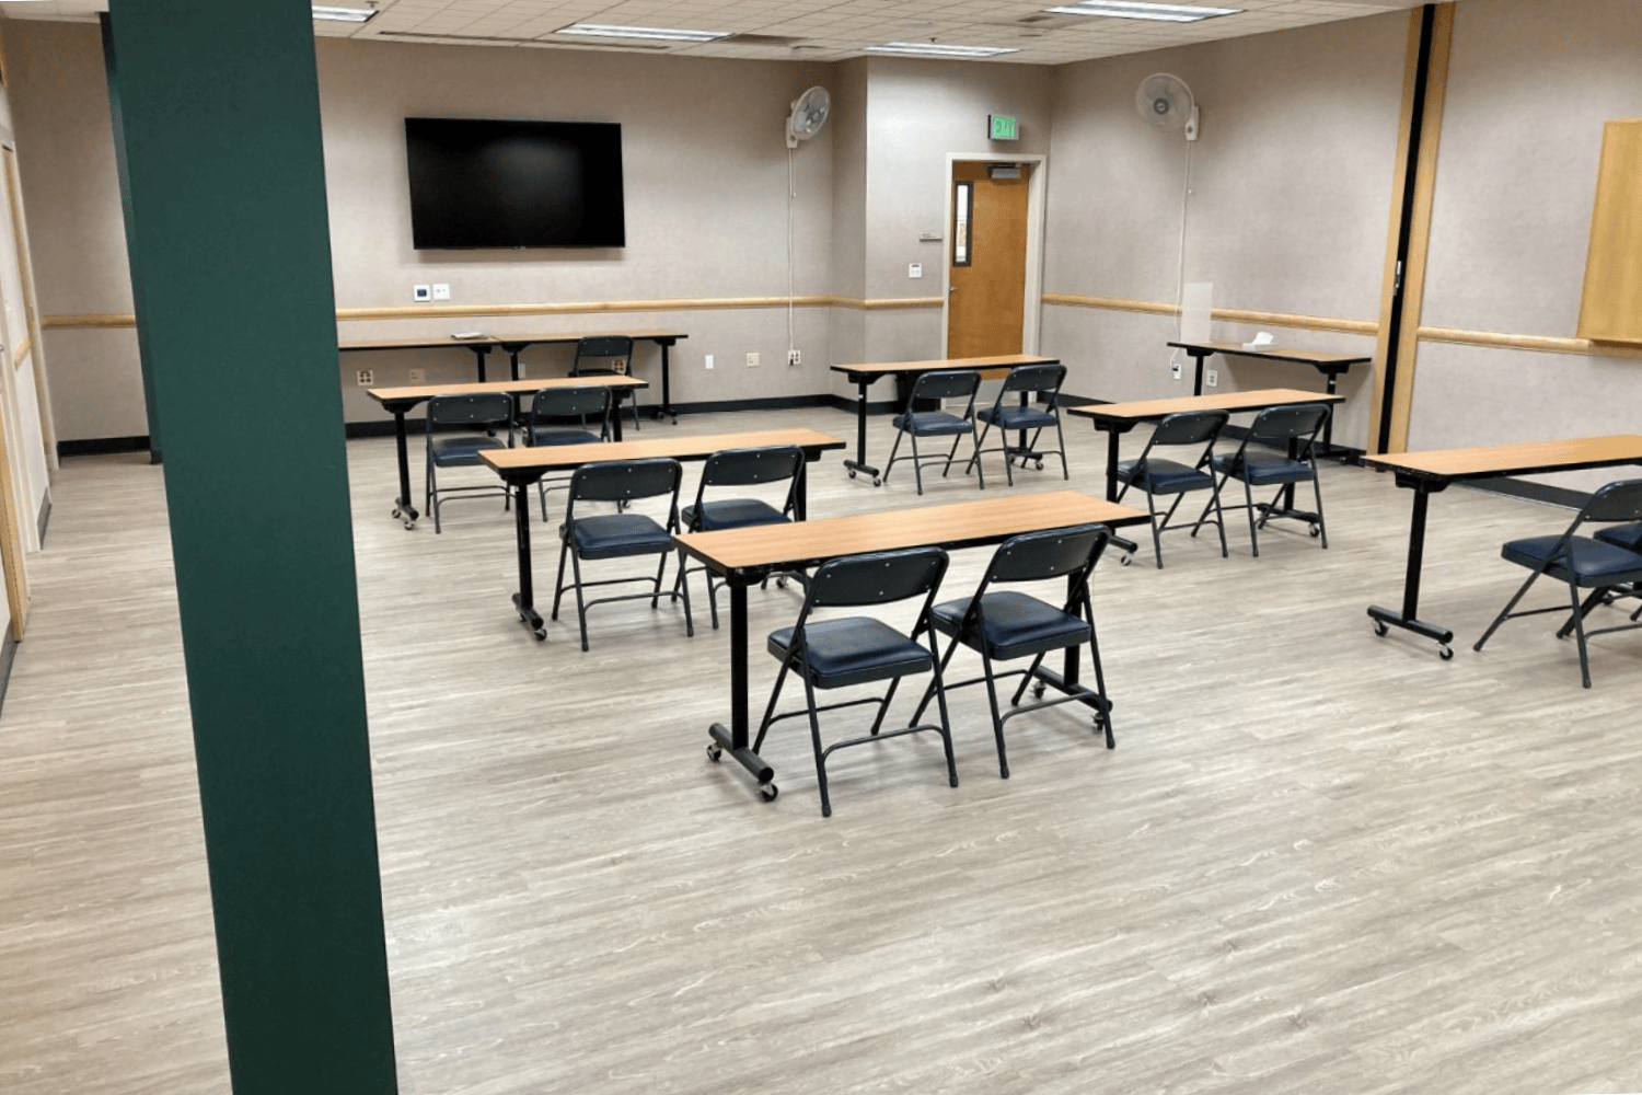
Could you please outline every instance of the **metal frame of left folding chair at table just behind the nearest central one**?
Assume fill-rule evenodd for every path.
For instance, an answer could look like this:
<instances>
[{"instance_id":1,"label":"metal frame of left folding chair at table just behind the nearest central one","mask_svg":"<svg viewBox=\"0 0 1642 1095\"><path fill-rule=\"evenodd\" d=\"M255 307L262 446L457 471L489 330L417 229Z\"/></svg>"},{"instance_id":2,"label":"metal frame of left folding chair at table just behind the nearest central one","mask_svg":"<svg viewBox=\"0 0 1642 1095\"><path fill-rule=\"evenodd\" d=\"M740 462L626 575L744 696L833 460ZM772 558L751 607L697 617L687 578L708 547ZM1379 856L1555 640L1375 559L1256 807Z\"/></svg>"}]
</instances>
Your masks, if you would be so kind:
<instances>
[{"instance_id":1,"label":"metal frame of left folding chair at table just behind the nearest central one","mask_svg":"<svg viewBox=\"0 0 1642 1095\"><path fill-rule=\"evenodd\" d=\"M570 558L575 581L571 583L576 589L576 621L581 625L581 650L588 650L588 609L594 604L608 604L611 601L649 601L650 607L655 609L662 591L662 576L667 573L667 560L673 555L673 545L668 542L667 547L655 552L660 557L660 563L655 570L655 578L647 578L644 575L632 575L627 578L601 578L599 581L583 581L581 580L581 553L571 550L570 543L576 532L576 502L616 502L617 507L626 507L634 501L645 497L662 497L670 496L668 514L667 514L667 532L678 532L678 486L683 481L683 465L677 460L660 456L649 460L604 460L596 463L581 465L570 476L570 496L565 501L565 524L560 525L560 548L558 548L558 578L553 583L553 612L552 619L558 619L558 602L565 596L565 558ZM663 478L670 478L668 486L657 486ZM631 552L624 555L616 555L611 558L635 558L639 555L649 555L650 552ZM621 586L634 581L652 583L650 593L626 593L609 598L586 599L583 589L591 589L594 586ZM695 621L690 614L690 586L683 589L672 589L665 594L668 599L683 599L685 602L685 635L693 637L696 634Z\"/></svg>"}]
</instances>

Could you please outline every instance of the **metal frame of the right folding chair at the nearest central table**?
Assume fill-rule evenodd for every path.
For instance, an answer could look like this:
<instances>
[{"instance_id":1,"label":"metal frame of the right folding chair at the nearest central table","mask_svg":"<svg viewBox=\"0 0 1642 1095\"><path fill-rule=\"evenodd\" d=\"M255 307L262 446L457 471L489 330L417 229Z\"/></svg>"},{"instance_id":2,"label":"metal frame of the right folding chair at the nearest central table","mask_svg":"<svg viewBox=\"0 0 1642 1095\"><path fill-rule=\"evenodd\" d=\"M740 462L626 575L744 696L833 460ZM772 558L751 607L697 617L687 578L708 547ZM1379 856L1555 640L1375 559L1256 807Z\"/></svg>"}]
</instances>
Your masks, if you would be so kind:
<instances>
[{"instance_id":1,"label":"metal frame of the right folding chair at the nearest central table","mask_svg":"<svg viewBox=\"0 0 1642 1095\"><path fill-rule=\"evenodd\" d=\"M1117 737L1113 737L1112 731L1112 699L1107 694L1107 676L1100 665L1100 644L1095 634L1095 609L1089 599L1089 575L1095 570L1095 565L1100 561L1107 545L1113 542L1115 537L1105 525L1044 529L1041 532L1026 532L1018 537L1010 537L998 545L997 552L993 552L992 561L987 565L987 573L980 578L980 584L975 588L975 593L970 594L969 604L964 609L964 616L959 624L954 627L944 622L941 616L931 617L934 629L943 635L951 637L946 653L941 655L943 675L946 673L947 663L952 660L959 645L969 647L980 655L980 676L972 676L965 681L944 683L943 686L946 691L954 691L957 688L985 683L987 703L992 709L992 734L998 745L1000 778L1010 778L1008 752L1003 745L1003 724L1018 714L1026 714L1028 711L1038 711L1041 708L1053 708L1074 701L1090 706L1095 709L1095 732L1103 731L1107 749L1117 749ZM1015 653L1010 652L1011 648L993 648L992 644L984 640L987 593L993 586L1053 581L1056 578L1066 580L1066 599L1059 606L1061 612L1084 621L1089 625L1087 639L1079 639L1064 645L1030 644L1026 648ZM1089 644L1089 658L1095 671L1095 688L1090 690L1077 681L1067 681L1061 673L1043 668L1044 655L1056 650L1074 650L1082 647L1085 642ZM1003 670L1000 673L993 667L995 660L1013 660L1028 655L1031 655L1031 665L1026 668ZM1020 676L1021 683L1010 698L1011 709L1003 712L998 708L997 681L1010 676ZM1049 685L1064 694L1044 699L1043 694ZM1020 703L1021 696L1026 694L1028 686L1031 686L1033 699L1036 703L1023 708ZM913 712L913 722L916 722L923 714L931 694L933 688L924 691L923 701Z\"/></svg>"}]
</instances>

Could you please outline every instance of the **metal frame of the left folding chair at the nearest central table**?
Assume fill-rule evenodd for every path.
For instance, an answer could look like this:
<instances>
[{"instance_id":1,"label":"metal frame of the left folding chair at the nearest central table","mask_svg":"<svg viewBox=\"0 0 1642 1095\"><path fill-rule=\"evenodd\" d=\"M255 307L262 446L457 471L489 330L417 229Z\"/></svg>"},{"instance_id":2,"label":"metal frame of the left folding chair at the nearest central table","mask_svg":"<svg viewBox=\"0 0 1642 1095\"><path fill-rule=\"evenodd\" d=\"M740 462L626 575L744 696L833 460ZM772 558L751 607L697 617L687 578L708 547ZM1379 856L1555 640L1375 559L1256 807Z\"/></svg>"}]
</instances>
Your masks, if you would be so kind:
<instances>
[{"instance_id":1,"label":"metal frame of the left folding chair at the nearest central table","mask_svg":"<svg viewBox=\"0 0 1642 1095\"><path fill-rule=\"evenodd\" d=\"M836 584L844 584L852 581L859 583L857 575L874 573L877 576L882 575L885 568L916 570L920 565L926 566L928 573L920 578L918 588L913 589L911 593L906 593L905 589L892 589L888 591L890 596L885 596L883 591L877 594L862 594L862 593L849 593L846 584L846 591L841 593L841 596L837 598L832 596ZM931 624L931 609L934 607L934 598L941 588L941 580L946 576L946 568L947 568L947 555L944 550L938 547L921 547L921 548L906 548L901 552L874 552L869 555L842 555L837 558L831 558L826 563L821 563L821 566L816 568L816 573L810 580L810 589L805 596L805 604L798 611L798 621L793 624L791 645L785 648L785 655L778 653L778 657L782 658L782 668L780 673L777 673L775 676L775 686L770 690L770 701L768 704L765 704L764 721L759 724L759 735L752 742L752 752L759 752L759 749L762 749L764 737L765 734L770 732L770 727L775 722L780 722L782 719L796 717L800 714L808 714L810 742L811 747L814 749L814 757L816 757L816 783L819 785L821 790L823 818L832 816L832 799L828 791L828 778L826 778L826 758L831 757L836 750L849 749L852 745L867 745L870 742L882 742L892 737L905 737L908 734L934 731L936 734L941 735L941 744L946 750L947 783L949 786L957 786L957 760L952 755L952 722L947 717L946 691L941 686L941 660L936 650L939 642L934 637ZM901 678L910 676L913 673L923 673L924 670L916 668L900 675L878 675L864 680L846 680L834 685L819 683L818 675L810 663L806 625L811 622L810 617L816 607L864 607L872 604L895 604L920 596L923 598L923 604L920 606L918 619L906 637L918 645L926 645L920 642L920 635L929 637L928 668L934 675L934 696L941 712L941 721L920 724L915 719L911 724L901 729L885 732L882 729L883 716L890 709L890 701L895 699L895 690L900 686ZM772 653L775 653L773 635L770 644L772 644ZM805 681L806 706L803 711L795 709L795 711L777 712L775 706L782 698L782 685L787 681L787 675L790 671L798 673ZM819 704L819 706L816 704L816 688L847 688L852 685L869 685L880 680L890 681L883 696L864 696L860 699L846 699L834 704ZM878 704L878 712L874 717L872 727L867 731L865 735L844 739L823 747L821 719L819 719L823 711L841 711L844 708L857 708L870 703ZM920 711L923 711L923 706L924 704L920 704Z\"/></svg>"}]
</instances>

